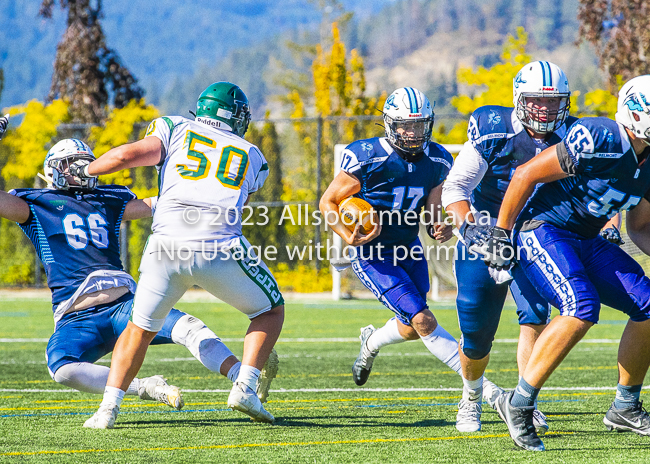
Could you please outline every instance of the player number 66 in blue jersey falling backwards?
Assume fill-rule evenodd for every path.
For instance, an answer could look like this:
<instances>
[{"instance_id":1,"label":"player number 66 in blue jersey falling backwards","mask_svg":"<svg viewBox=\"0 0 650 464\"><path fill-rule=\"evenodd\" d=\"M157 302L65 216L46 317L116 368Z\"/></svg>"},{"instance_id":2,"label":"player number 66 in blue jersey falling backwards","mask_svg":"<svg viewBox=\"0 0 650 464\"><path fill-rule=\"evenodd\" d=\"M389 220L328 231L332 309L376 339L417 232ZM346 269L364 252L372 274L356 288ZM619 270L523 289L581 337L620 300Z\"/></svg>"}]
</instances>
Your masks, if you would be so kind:
<instances>
[{"instance_id":1,"label":"player number 66 in blue jersey falling backwards","mask_svg":"<svg viewBox=\"0 0 650 464\"><path fill-rule=\"evenodd\" d=\"M58 142L44 163L49 188L0 191L0 216L18 223L45 268L55 322L46 353L50 375L76 390L101 394L109 368L93 363L113 350L131 316L136 287L120 261L120 225L151 217L156 199L138 200L126 187L97 186L96 178L67 173L70 164L94 159L80 140ZM153 344L172 343L185 346L211 371L237 378L241 363L198 318L172 310ZM264 398L274 370L269 364L271 376L258 390ZM183 407L178 387L159 375L136 378L126 394Z\"/></svg>"}]
</instances>

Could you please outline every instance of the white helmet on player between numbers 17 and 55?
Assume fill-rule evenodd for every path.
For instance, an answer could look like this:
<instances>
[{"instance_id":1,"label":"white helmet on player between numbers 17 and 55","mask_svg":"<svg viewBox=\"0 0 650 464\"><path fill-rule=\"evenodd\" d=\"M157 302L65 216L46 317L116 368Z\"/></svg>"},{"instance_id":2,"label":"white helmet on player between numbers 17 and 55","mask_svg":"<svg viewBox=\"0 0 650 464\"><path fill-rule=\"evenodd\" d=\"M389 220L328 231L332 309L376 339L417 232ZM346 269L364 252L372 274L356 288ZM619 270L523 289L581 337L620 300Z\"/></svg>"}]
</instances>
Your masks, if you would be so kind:
<instances>
[{"instance_id":1,"label":"white helmet on player between numbers 17 and 55","mask_svg":"<svg viewBox=\"0 0 650 464\"><path fill-rule=\"evenodd\" d=\"M548 61L533 61L517 73L513 80L513 103L517 118L527 128L538 134L549 134L559 129L571 107L569 81L562 69ZM527 106L526 98L559 98L557 111Z\"/></svg>"}]
</instances>

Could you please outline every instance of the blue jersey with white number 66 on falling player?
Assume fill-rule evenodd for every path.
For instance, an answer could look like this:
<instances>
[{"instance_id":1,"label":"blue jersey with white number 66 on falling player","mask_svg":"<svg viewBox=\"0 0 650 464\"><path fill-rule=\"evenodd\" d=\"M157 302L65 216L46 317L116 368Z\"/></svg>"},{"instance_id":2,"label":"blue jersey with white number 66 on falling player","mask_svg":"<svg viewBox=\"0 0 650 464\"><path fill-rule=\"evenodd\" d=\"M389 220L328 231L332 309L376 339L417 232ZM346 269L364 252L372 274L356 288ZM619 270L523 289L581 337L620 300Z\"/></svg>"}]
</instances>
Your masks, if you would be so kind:
<instances>
[{"instance_id":1,"label":"blue jersey with white number 66 on falling player","mask_svg":"<svg viewBox=\"0 0 650 464\"><path fill-rule=\"evenodd\" d=\"M88 274L122 270L119 234L126 204L136 196L105 185L89 192L17 189L30 209L20 228L43 263L55 306L70 298Z\"/></svg>"}]
</instances>

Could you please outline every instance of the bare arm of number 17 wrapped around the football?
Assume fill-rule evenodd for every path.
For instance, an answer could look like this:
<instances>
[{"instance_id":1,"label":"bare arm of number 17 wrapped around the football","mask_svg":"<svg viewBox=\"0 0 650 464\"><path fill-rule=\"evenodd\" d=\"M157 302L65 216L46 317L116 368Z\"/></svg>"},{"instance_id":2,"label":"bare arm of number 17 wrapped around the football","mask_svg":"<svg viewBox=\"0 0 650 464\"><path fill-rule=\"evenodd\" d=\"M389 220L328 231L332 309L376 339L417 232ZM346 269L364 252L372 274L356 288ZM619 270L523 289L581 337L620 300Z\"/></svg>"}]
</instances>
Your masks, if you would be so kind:
<instances>
[{"instance_id":1,"label":"bare arm of number 17 wrapped around the football","mask_svg":"<svg viewBox=\"0 0 650 464\"><path fill-rule=\"evenodd\" d=\"M381 231L381 226L379 224L375 225L375 228L368 235L363 235L359 232L359 227L356 228L355 232L350 232L345 224L341 222L339 218L339 203L345 198L358 193L361 190L361 183L359 180L351 174L348 174L345 171L341 171L332 181L332 183L327 187L325 193L320 199L319 209L325 221L331 229L341 236L348 244L358 246L363 245L366 242L374 239L379 232Z\"/></svg>"}]
</instances>

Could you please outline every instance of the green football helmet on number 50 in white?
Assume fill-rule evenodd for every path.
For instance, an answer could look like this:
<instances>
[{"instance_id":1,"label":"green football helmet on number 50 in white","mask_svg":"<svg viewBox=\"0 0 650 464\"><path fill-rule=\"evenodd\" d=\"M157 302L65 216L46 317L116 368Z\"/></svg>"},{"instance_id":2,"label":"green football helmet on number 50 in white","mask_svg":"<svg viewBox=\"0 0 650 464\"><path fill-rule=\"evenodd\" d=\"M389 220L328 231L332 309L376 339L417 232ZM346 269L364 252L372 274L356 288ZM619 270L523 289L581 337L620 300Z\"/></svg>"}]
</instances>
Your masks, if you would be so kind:
<instances>
[{"instance_id":1,"label":"green football helmet on number 50 in white","mask_svg":"<svg viewBox=\"0 0 650 464\"><path fill-rule=\"evenodd\" d=\"M246 94L230 82L215 82L196 102L196 120L243 137L251 121Z\"/></svg>"}]
</instances>

